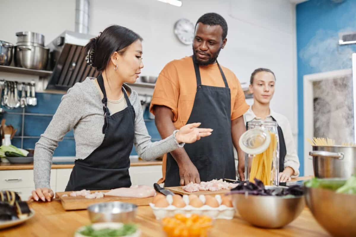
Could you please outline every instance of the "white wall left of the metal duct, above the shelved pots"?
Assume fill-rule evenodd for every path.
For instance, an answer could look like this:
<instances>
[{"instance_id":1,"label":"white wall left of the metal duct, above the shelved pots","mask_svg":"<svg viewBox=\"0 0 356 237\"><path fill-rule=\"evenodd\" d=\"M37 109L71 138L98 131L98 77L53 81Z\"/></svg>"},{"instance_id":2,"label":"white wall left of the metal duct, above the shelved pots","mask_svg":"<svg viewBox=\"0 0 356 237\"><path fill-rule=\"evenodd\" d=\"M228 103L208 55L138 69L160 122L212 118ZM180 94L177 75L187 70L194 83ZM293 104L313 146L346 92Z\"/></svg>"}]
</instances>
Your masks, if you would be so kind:
<instances>
[{"instance_id":1,"label":"white wall left of the metal duct, above the shelved pots","mask_svg":"<svg viewBox=\"0 0 356 237\"><path fill-rule=\"evenodd\" d=\"M45 44L64 30L74 31L75 0L0 0L0 40L16 44L16 32L45 35Z\"/></svg>"}]
</instances>

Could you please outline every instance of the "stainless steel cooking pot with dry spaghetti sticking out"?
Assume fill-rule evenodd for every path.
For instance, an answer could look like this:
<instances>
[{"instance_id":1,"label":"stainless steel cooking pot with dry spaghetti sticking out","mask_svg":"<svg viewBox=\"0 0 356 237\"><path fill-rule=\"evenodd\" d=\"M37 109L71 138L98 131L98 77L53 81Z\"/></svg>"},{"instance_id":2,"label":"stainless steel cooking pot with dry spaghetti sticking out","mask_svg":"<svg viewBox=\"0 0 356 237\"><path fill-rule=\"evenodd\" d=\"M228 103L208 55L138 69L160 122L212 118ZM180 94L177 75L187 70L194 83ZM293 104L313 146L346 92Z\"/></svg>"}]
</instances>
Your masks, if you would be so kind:
<instances>
[{"instance_id":1,"label":"stainless steel cooking pot with dry spaghetti sticking out","mask_svg":"<svg viewBox=\"0 0 356 237\"><path fill-rule=\"evenodd\" d=\"M355 146L313 146L314 176L317 178L350 178L356 173Z\"/></svg>"}]
</instances>

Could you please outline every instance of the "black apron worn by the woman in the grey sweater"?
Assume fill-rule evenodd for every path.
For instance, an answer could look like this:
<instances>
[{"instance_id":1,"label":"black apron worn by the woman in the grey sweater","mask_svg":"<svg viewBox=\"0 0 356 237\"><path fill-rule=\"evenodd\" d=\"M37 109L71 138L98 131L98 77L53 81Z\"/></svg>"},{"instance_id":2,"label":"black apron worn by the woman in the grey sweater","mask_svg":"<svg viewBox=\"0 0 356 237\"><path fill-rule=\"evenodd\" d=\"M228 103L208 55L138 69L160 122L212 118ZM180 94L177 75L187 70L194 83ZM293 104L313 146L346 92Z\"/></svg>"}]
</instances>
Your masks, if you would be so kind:
<instances>
[{"instance_id":1,"label":"black apron worn by the woman in the grey sweater","mask_svg":"<svg viewBox=\"0 0 356 237\"><path fill-rule=\"evenodd\" d=\"M129 167L135 136L135 110L122 88L127 107L110 115L103 76L99 75L97 80L104 95L104 140L87 158L75 160L66 191L131 186Z\"/></svg>"}]
</instances>

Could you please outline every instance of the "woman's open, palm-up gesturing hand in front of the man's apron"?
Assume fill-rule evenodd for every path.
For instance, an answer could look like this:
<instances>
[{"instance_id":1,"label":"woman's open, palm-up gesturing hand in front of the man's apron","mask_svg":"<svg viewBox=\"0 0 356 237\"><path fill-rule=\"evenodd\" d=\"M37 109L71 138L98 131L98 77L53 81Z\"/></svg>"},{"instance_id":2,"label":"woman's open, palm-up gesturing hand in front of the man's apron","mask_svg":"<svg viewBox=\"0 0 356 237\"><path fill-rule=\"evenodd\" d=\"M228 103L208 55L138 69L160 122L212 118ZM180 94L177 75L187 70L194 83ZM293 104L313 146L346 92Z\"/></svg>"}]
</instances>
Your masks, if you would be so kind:
<instances>
[{"instance_id":1,"label":"woman's open, palm-up gesturing hand in front of the man's apron","mask_svg":"<svg viewBox=\"0 0 356 237\"><path fill-rule=\"evenodd\" d=\"M193 143L200 138L210 136L213 129L198 128L201 123L190 123L179 129L176 133L176 140L178 143Z\"/></svg>"}]
</instances>

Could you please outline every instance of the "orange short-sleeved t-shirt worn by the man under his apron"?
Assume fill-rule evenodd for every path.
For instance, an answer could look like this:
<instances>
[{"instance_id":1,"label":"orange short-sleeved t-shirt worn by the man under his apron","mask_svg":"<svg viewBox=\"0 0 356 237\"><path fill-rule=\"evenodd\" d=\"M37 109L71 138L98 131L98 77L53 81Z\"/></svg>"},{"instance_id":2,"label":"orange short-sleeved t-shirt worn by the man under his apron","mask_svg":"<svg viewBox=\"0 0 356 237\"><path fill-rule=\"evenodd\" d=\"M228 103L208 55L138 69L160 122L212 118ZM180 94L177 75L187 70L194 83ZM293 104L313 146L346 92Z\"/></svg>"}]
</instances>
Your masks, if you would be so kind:
<instances>
[{"instance_id":1,"label":"orange short-sleeved t-shirt worn by the man under his apron","mask_svg":"<svg viewBox=\"0 0 356 237\"><path fill-rule=\"evenodd\" d=\"M221 66L221 65L220 65ZM249 108L245 101L245 94L234 72L224 68L227 85L231 94L231 120L242 116ZM199 66L201 84L206 86L225 87L218 64ZM192 57L169 62L162 69L156 81L153 92L150 112L154 114L153 106L163 105L172 109L173 123L177 129L184 126L193 109L195 93L197 92L197 79L195 77ZM162 177L158 183L164 182L166 176L167 154L163 156Z\"/></svg>"}]
</instances>

